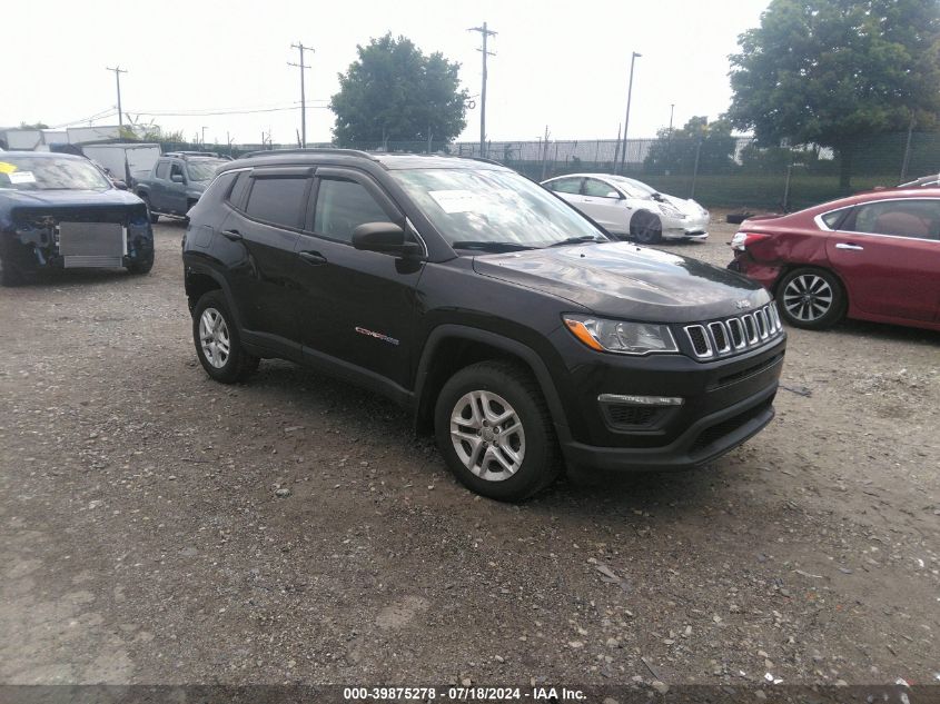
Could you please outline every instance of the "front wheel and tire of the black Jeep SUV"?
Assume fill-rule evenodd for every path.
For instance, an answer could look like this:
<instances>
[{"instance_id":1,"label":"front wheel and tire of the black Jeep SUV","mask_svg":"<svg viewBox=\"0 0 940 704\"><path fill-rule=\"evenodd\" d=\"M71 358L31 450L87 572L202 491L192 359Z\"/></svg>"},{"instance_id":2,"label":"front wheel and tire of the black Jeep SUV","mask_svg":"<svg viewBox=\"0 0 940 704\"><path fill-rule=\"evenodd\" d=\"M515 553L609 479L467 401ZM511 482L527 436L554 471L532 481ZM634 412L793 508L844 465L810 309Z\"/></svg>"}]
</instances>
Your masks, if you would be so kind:
<instances>
[{"instance_id":1,"label":"front wheel and tire of the black Jeep SUV","mask_svg":"<svg viewBox=\"0 0 940 704\"><path fill-rule=\"evenodd\" d=\"M434 428L457 479L496 500L526 499L562 468L542 389L516 364L481 361L457 371L437 396Z\"/></svg>"}]
</instances>

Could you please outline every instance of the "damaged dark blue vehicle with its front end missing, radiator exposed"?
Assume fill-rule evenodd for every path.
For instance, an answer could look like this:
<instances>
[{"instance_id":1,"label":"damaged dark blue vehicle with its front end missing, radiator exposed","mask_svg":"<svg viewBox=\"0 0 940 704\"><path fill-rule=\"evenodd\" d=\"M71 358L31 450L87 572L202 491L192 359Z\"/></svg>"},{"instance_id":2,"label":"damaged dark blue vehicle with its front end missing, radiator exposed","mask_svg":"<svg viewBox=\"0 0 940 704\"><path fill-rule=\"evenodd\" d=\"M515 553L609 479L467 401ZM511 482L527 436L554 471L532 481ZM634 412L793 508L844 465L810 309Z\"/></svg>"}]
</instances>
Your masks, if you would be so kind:
<instances>
[{"instance_id":1,"label":"damaged dark blue vehicle with its front end missing, radiator exposed","mask_svg":"<svg viewBox=\"0 0 940 704\"><path fill-rule=\"evenodd\" d=\"M154 267L147 206L93 163L65 153L0 153L0 285L40 269Z\"/></svg>"}]
</instances>

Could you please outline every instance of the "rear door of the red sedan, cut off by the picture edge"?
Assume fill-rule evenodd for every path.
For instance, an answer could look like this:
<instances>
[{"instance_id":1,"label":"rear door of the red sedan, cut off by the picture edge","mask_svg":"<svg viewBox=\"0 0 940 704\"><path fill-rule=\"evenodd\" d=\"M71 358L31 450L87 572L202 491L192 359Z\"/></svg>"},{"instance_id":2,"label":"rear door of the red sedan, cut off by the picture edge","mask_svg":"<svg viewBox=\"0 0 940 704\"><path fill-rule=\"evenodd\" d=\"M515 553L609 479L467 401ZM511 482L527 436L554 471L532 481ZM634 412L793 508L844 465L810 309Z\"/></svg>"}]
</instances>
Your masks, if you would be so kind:
<instances>
[{"instance_id":1,"label":"rear door of the red sedan, cut off by the picture edge","mask_svg":"<svg viewBox=\"0 0 940 704\"><path fill-rule=\"evenodd\" d=\"M859 309L934 320L940 310L940 200L858 206L827 238L827 256Z\"/></svg>"}]
</instances>

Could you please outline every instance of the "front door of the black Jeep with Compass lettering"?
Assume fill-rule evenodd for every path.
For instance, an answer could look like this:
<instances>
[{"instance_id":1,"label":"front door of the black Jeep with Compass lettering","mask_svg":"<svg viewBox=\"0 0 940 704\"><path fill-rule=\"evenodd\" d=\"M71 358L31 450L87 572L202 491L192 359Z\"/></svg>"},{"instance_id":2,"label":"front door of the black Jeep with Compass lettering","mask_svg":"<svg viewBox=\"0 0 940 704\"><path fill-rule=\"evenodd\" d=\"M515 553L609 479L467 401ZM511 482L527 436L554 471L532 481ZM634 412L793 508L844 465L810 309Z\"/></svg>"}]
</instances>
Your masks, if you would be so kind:
<instances>
[{"instance_id":1,"label":"front door of the black Jeep with Compass lettering","mask_svg":"<svg viewBox=\"0 0 940 704\"><path fill-rule=\"evenodd\" d=\"M424 262L353 247L365 222L405 228L398 207L366 173L317 169L314 208L297 240L301 303L296 308L304 353L311 361L353 365L400 388L410 384L415 288Z\"/></svg>"}]
</instances>

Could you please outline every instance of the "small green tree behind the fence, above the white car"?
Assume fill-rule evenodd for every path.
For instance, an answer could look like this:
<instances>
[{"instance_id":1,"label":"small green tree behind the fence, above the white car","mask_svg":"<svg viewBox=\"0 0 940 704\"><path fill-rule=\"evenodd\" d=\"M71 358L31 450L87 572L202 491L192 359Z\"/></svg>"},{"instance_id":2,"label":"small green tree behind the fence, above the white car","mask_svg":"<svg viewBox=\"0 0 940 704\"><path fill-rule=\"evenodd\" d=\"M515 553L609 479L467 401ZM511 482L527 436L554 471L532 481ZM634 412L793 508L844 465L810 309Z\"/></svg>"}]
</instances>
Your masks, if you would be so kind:
<instances>
[{"instance_id":1,"label":"small green tree behind the fence, above the white car","mask_svg":"<svg viewBox=\"0 0 940 704\"><path fill-rule=\"evenodd\" d=\"M734 149L738 140L731 136L731 122L721 118L709 122L695 116L684 127L656 130L656 141L650 147L644 167L651 173L691 173L699 152L699 171L724 173L735 167Z\"/></svg>"}]
</instances>

